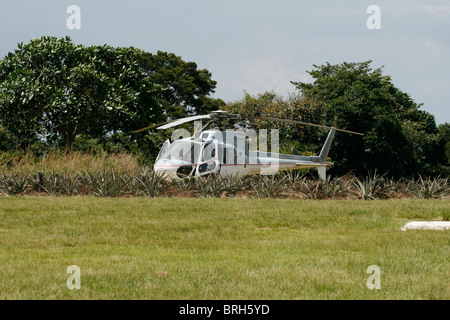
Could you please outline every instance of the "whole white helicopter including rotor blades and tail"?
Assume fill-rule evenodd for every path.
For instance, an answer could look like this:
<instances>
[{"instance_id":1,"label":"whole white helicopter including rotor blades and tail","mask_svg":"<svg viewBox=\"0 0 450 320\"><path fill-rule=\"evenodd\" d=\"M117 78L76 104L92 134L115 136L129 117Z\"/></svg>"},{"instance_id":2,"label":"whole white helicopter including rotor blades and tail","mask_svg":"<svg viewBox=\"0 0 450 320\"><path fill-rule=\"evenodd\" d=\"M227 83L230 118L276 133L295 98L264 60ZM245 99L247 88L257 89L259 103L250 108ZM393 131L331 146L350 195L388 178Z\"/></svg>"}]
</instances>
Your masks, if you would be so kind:
<instances>
[{"instance_id":1,"label":"whole white helicopter including rotor blades and tail","mask_svg":"<svg viewBox=\"0 0 450 320\"><path fill-rule=\"evenodd\" d=\"M209 122L204 127L201 127L201 119L209 119ZM302 156L295 149L292 150L294 153L293 155L282 154L278 152L267 152L265 150L253 150L254 148L252 147L256 146L256 132L254 130L244 132L223 130L223 128L221 128L221 123L224 120L240 119L284 121L327 128L330 131L318 156ZM358 132L308 122L267 117L241 116L221 110L213 111L211 114L207 115L186 117L169 121L162 125L158 124L142 128L133 131L133 133L154 127L157 127L156 129L168 129L190 121L195 121L194 125L196 129L194 129L194 135L177 139L180 136L180 132L175 132L175 134L172 135L172 138L175 141L170 142L167 140L163 144L154 164L155 172L163 174L166 178L182 179L188 176L201 177L213 173L221 176L242 177L251 174L274 174L278 171L316 168L319 177L326 180L326 167L333 164L327 162L326 159L335 132L342 131L351 134L364 135ZM211 125L215 125L215 128L206 130L206 128ZM186 134L183 134L184 132L181 133L181 136L186 136ZM272 139L273 138L274 137L272 136Z\"/></svg>"}]
</instances>

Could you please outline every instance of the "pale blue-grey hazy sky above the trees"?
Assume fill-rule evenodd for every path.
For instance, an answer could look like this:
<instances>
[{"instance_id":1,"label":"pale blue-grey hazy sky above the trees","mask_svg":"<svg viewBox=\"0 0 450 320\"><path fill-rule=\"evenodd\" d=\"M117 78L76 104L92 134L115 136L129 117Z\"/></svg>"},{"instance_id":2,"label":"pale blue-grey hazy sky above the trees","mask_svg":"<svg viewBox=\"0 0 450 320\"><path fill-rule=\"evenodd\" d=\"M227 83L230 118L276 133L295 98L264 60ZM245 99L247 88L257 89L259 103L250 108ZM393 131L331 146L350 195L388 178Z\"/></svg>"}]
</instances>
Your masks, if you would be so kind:
<instances>
[{"instance_id":1,"label":"pale blue-grey hazy sky above the trees","mask_svg":"<svg viewBox=\"0 0 450 320\"><path fill-rule=\"evenodd\" d=\"M67 26L70 5L80 29ZM212 96L226 102L288 95L291 81L313 80L314 65L372 60L437 124L450 122L450 0L2 1L0 58L44 35L173 52L209 70Z\"/></svg>"}]
</instances>

